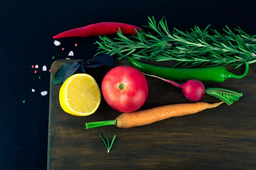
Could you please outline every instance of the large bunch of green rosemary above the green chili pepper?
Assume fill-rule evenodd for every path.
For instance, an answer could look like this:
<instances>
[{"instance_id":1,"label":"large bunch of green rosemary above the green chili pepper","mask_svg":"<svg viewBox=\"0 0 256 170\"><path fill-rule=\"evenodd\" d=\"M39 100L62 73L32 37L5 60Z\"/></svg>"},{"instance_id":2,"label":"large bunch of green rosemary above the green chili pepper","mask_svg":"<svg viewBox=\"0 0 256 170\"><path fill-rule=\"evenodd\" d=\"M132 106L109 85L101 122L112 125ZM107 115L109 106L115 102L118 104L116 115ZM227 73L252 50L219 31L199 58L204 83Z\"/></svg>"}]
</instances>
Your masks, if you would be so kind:
<instances>
[{"instance_id":1,"label":"large bunch of green rosemary above the green chili pepper","mask_svg":"<svg viewBox=\"0 0 256 170\"><path fill-rule=\"evenodd\" d=\"M190 64L186 67L234 65L239 68L245 62L256 62L256 35L250 36L239 27L234 29L236 34L227 26L223 29L224 34L212 29L213 34L209 34L210 25L205 29L195 26L191 32L173 28L171 33L164 17L158 23L154 17L148 19L148 26L145 27L151 28L157 35L136 30L137 36L126 37L119 29L119 38L111 40L106 35L99 36L101 42L96 42L99 52L95 55L106 53L116 55L118 59L175 60L175 66Z\"/></svg>"}]
</instances>

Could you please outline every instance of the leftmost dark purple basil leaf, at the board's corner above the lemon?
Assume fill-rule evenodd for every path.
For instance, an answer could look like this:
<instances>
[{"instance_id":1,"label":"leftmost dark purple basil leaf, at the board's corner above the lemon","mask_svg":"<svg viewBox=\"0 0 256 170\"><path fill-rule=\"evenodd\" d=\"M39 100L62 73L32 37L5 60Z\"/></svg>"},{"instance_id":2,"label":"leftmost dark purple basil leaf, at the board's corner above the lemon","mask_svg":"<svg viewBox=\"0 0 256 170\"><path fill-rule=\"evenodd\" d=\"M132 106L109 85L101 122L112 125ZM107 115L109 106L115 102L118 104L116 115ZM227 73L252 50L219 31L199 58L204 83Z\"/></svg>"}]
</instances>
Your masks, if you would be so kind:
<instances>
[{"instance_id":1,"label":"leftmost dark purple basil leaf, at the board's corner above the lemon","mask_svg":"<svg viewBox=\"0 0 256 170\"><path fill-rule=\"evenodd\" d=\"M78 62L66 63L55 73L52 84L63 83L66 79L76 73L80 65Z\"/></svg>"}]
</instances>

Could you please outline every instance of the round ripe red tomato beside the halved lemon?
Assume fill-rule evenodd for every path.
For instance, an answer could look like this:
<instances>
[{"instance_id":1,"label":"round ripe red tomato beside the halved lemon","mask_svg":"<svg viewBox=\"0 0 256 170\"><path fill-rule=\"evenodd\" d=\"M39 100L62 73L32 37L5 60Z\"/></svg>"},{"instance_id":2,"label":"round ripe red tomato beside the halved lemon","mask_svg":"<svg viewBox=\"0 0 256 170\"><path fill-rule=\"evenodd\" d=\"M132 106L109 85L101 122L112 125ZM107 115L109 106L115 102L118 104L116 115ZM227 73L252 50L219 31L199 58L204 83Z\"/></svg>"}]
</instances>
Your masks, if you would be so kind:
<instances>
[{"instance_id":1,"label":"round ripe red tomato beside the halved lemon","mask_svg":"<svg viewBox=\"0 0 256 170\"><path fill-rule=\"evenodd\" d=\"M117 66L103 78L102 94L116 111L133 112L144 105L148 97L148 82L136 68Z\"/></svg>"}]
</instances>

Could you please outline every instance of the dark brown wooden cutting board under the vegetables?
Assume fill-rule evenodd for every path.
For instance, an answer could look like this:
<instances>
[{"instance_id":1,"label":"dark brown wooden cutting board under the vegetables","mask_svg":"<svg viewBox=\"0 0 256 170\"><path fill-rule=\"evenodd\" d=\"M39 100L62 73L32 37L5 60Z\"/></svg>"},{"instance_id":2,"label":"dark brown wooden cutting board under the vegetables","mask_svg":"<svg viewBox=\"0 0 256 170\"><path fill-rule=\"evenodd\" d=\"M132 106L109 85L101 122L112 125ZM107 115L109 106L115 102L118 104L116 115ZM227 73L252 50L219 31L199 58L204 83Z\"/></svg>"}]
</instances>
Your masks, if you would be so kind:
<instances>
[{"instance_id":1,"label":"dark brown wooden cutting board under the vegetables","mask_svg":"<svg viewBox=\"0 0 256 170\"><path fill-rule=\"evenodd\" d=\"M58 60L52 64L51 81L61 65L77 60ZM153 65L172 66L173 62L143 61ZM129 65L117 60L116 65ZM108 67L106 69L111 69ZM234 70L242 74L244 67ZM196 114L173 117L150 125L128 129L105 126L85 129L86 122L115 119L119 112L108 106L102 96L98 110L79 117L65 113L59 104L62 84L50 85L48 170L252 170L256 169L256 65L243 79L222 83L204 82L206 87L227 88L242 92L233 105ZM102 74L91 74L101 87ZM141 108L191 102L182 91L154 77L148 80L148 99ZM202 102L219 102L207 94ZM99 136L116 140L110 153Z\"/></svg>"}]
</instances>

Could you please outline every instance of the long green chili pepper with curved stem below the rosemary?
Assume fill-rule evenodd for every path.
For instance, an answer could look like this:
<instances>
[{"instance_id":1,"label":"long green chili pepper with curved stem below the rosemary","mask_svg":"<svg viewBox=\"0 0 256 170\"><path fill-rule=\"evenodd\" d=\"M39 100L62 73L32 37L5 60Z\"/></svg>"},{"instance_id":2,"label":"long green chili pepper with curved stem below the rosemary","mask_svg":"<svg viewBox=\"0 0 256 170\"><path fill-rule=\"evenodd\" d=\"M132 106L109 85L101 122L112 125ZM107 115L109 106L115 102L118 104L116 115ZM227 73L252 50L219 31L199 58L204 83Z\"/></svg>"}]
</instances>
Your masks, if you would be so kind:
<instances>
[{"instance_id":1,"label":"long green chili pepper with curved stem below the rosemary","mask_svg":"<svg viewBox=\"0 0 256 170\"><path fill-rule=\"evenodd\" d=\"M223 66L209 68L168 68L155 65L149 65L136 59L128 57L132 65L145 74L154 75L163 79L174 81L187 81L189 79L198 79L207 82L224 82L226 79L241 79L247 75L249 64L245 63L245 71L242 75L235 75Z\"/></svg>"}]
</instances>

